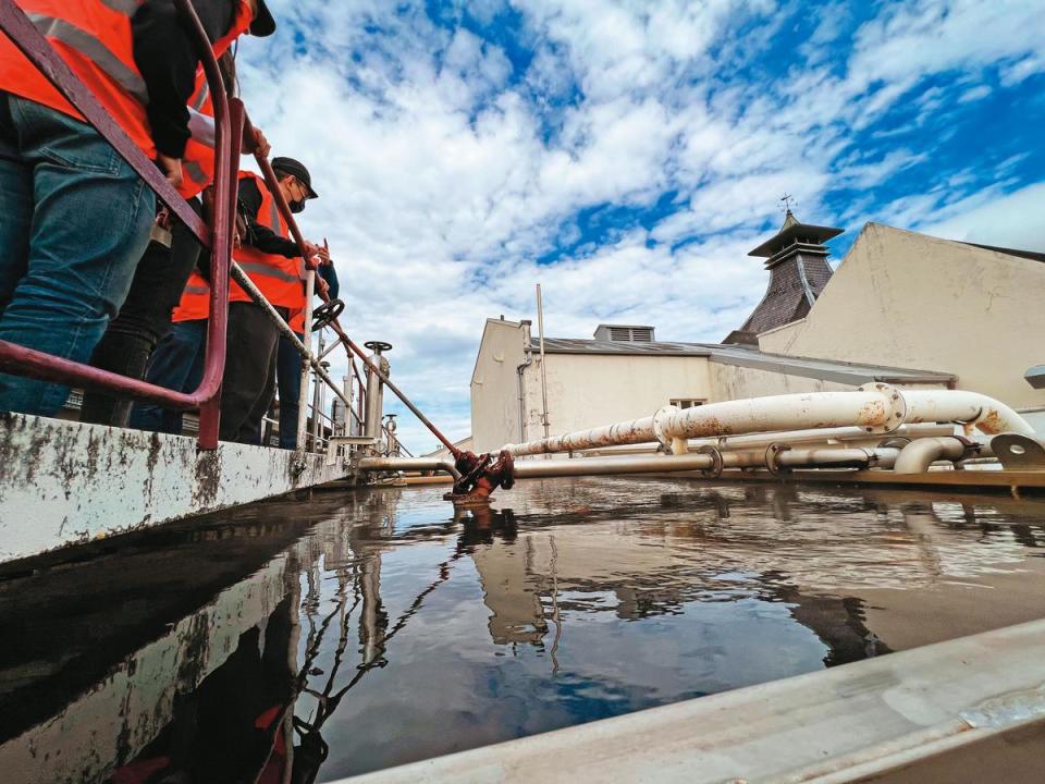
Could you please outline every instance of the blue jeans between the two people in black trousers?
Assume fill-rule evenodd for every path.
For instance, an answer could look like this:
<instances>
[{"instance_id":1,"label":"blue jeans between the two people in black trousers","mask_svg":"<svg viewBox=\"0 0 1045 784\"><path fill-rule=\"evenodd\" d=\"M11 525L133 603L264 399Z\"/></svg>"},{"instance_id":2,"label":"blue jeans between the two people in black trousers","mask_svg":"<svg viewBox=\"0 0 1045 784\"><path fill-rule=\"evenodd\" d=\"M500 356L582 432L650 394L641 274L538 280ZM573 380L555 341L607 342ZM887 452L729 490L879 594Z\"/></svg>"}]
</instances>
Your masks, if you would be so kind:
<instances>
[{"instance_id":1,"label":"blue jeans between the two people in black trousers","mask_svg":"<svg viewBox=\"0 0 1045 784\"><path fill-rule=\"evenodd\" d=\"M175 392L193 392L204 378L207 321L182 321L171 327L157 344L145 380ZM155 403L136 403L128 427L180 436L182 412L161 408Z\"/></svg>"}]
</instances>

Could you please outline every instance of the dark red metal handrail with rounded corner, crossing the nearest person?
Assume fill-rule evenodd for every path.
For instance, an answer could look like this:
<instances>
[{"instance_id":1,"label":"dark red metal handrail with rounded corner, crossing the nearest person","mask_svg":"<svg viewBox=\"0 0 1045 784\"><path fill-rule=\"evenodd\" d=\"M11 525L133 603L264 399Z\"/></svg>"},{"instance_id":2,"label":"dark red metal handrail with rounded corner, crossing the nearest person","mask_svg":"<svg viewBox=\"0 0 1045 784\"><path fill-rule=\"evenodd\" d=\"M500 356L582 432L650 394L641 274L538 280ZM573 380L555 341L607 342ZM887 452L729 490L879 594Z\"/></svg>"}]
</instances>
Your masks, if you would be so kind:
<instances>
[{"instance_id":1,"label":"dark red metal handrail with rounded corner, crossing the nearest person","mask_svg":"<svg viewBox=\"0 0 1045 784\"><path fill-rule=\"evenodd\" d=\"M204 247L210 248L211 318L207 329L202 381L195 392L175 392L5 341L0 341L0 369L12 375L28 376L44 381L79 384L85 389L158 403L180 411L199 408L199 445L202 449L216 449L219 426L218 393L225 365L229 264L232 258L233 221L238 186L236 172L239 168L239 144L233 144L233 140L238 142L242 137L245 113L241 101L226 97L218 61L190 0L174 0L174 4L193 30L194 42L213 99L216 166L212 226L193 211L185 199L163 177L156 164L112 120L94 94L58 56L47 38L33 26L13 0L0 0L0 29L84 115L102 138L112 145L160 200L189 228ZM239 136L237 137L236 134Z\"/></svg>"}]
</instances>

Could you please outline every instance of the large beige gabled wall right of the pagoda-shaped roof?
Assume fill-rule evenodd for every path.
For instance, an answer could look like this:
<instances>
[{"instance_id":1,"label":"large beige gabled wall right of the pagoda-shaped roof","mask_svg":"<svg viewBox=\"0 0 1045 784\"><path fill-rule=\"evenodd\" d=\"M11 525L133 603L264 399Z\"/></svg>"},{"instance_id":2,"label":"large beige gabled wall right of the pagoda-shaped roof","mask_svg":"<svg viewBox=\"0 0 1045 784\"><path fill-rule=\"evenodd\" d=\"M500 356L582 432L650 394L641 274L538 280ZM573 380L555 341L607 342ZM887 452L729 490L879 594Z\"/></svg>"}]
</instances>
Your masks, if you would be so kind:
<instances>
[{"instance_id":1,"label":"large beige gabled wall right of the pagoda-shaped roof","mask_svg":"<svg viewBox=\"0 0 1045 784\"><path fill-rule=\"evenodd\" d=\"M877 223L864 226L803 321L762 351L950 372L1015 407L1045 405L1045 264Z\"/></svg>"}]
</instances>

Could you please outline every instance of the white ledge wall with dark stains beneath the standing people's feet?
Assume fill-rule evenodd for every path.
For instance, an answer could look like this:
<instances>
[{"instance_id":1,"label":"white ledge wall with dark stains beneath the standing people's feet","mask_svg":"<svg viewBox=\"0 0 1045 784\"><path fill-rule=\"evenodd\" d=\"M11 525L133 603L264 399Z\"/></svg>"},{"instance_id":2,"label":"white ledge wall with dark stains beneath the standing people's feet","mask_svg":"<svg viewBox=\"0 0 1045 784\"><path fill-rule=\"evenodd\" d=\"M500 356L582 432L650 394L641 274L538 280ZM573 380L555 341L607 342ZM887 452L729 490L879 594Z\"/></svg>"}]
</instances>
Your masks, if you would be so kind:
<instances>
[{"instance_id":1,"label":"white ledge wall with dark stains beneath the standing people's feet","mask_svg":"<svg viewBox=\"0 0 1045 784\"><path fill-rule=\"evenodd\" d=\"M0 414L0 564L348 476L346 460Z\"/></svg>"}]
</instances>

